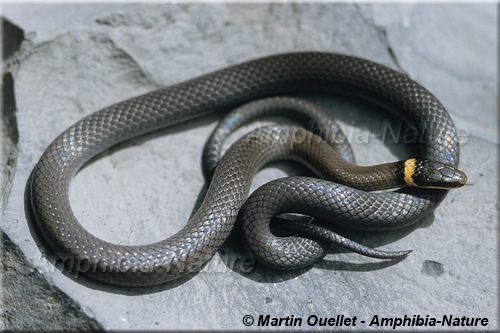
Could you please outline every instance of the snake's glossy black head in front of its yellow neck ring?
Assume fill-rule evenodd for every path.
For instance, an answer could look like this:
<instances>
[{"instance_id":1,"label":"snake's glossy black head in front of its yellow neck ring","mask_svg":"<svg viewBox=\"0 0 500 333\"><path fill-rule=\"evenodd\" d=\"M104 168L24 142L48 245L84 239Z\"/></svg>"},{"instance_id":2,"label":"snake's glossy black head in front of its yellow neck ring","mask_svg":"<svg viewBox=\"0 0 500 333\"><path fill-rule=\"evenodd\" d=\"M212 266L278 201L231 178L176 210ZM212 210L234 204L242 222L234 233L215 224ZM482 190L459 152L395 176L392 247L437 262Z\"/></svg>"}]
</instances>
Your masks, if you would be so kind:
<instances>
[{"instance_id":1,"label":"snake's glossy black head in front of its yellow neck ring","mask_svg":"<svg viewBox=\"0 0 500 333\"><path fill-rule=\"evenodd\" d=\"M436 161L418 160L413 181L419 187L453 189L467 183L467 175L457 168Z\"/></svg>"}]
</instances>

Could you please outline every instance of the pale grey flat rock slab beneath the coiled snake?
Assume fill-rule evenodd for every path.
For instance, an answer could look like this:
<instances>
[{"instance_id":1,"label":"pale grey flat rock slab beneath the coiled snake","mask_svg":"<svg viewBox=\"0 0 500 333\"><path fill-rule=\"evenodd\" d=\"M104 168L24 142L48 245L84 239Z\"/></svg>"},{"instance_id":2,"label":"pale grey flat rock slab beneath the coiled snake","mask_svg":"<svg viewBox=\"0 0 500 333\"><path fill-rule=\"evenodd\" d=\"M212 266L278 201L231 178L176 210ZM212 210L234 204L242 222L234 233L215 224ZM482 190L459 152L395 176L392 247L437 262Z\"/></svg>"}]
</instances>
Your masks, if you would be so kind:
<instances>
[{"instance_id":1,"label":"pale grey flat rock slab beneath the coiled snake","mask_svg":"<svg viewBox=\"0 0 500 333\"><path fill-rule=\"evenodd\" d=\"M4 92L7 82L15 107L2 117L7 155L0 160L0 228L26 258L17 250L11 256L16 245L6 239L2 263L25 267L27 260L41 273L33 273L37 282L23 294L35 297L20 306L31 309L34 299L48 298L38 287L47 283L50 293L61 292L46 304L72 309L72 325L81 329L244 329L245 315L257 321L267 314L303 318L307 328L317 328L306 322L313 314L356 316L366 321L356 327L363 330L375 315L405 314L485 317L489 323L481 329L498 328L494 5L7 5L4 15L19 27L22 44L4 66ZM194 277L138 289L75 278L47 259L45 244L28 223L25 186L43 149L66 127L160 86L298 50L352 54L405 72L432 91L456 121L461 168L470 185L451 192L433 216L410 230L349 233L369 246L414 249L408 258L384 262L340 251L311 269L276 272L254 265L235 235ZM340 120L359 163L410 155L391 138L389 126L400 123L387 121L372 105L310 97ZM201 150L217 119L133 139L87 165L70 193L81 223L105 240L128 244L158 241L181 228L202 194ZM260 172L253 186L297 172L276 165ZM13 275L22 280L24 274ZM3 282L4 321L13 313L9 295L17 292L15 285ZM48 308L39 311L51 313ZM23 316L3 325L22 329L29 320Z\"/></svg>"}]
</instances>

